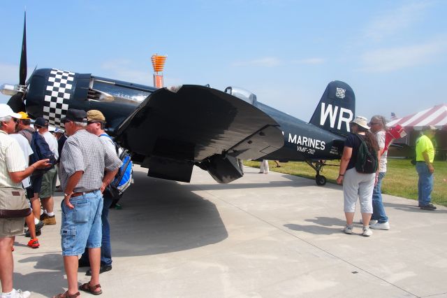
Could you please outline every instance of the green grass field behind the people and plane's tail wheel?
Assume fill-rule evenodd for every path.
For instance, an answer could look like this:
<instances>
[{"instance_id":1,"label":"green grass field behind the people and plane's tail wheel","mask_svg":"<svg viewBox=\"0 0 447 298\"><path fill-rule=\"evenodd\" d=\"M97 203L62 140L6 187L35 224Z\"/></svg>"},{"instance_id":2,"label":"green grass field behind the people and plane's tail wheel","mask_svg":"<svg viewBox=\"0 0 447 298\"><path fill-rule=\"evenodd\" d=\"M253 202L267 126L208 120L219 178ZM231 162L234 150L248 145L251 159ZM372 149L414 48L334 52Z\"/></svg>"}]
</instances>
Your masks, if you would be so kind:
<instances>
[{"instance_id":1,"label":"green grass field behind the people and plane's tail wheel","mask_svg":"<svg viewBox=\"0 0 447 298\"><path fill-rule=\"evenodd\" d=\"M259 162L244 162L247 166L259 167ZM339 162L328 161L328 164L337 166L325 166L321 172L328 179L328 183L335 183L338 176ZM270 171L287 173L295 176L315 179L315 171L305 162L283 162L277 168L273 161L269 160ZM382 193L392 194L397 197L418 199L418 173L409 159L388 159L388 170L382 180ZM432 203L447 206L447 162L434 162L434 187Z\"/></svg>"}]
</instances>

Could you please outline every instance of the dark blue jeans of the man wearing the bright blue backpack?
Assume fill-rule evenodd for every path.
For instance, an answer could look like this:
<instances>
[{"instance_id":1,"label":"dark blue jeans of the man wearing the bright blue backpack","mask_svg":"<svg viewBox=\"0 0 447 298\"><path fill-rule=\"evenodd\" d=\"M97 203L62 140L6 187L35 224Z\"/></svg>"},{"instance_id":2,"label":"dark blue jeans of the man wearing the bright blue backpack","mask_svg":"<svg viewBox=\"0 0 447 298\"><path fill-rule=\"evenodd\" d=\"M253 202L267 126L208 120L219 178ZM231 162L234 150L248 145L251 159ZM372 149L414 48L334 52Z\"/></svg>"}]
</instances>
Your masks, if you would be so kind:
<instances>
[{"instance_id":1,"label":"dark blue jeans of the man wearing the bright blue backpack","mask_svg":"<svg viewBox=\"0 0 447 298\"><path fill-rule=\"evenodd\" d=\"M109 208L112 205L113 199L108 192L104 192L103 213L101 215L101 222L103 223L103 238L101 239L101 265L112 264L112 246L110 246L110 224L108 220ZM80 258L80 262L89 264L89 250L85 250Z\"/></svg>"}]
</instances>

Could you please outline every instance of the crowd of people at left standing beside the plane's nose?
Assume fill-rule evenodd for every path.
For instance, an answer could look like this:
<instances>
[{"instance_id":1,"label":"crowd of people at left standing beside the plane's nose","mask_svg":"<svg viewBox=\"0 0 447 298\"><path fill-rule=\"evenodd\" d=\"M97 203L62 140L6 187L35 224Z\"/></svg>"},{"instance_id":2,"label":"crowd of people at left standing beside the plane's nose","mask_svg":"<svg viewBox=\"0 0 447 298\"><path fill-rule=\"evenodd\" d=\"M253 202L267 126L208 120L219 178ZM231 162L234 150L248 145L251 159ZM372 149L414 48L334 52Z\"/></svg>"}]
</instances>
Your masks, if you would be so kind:
<instances>
[{"instance_id":1,"label":"crowd of people at left standing beside the plane's nose","mask_svg":"<svg viewBox=\"0 0 447 298\"><path fill-rule=\"evenodd\" d=\"M0 216L1 298L31 295L13 287L13 243L25 222L31 248L40 246L37 236L44 225L56 225L52 197L58 176L64 191L61 249L68 290L54 297L78 297L79 290L100 295L99 274L112 269L108 208L114 198L107 187L122 161L104 132L106 122L100 111L68 109L61 122L65 131L57 129L53 136L44 118L37 118L33 128L27 113L14 113L8 105L0 104L0 188L13 193L26 190L29 199L25 218L17 217L17 212ZM31 163L30 157L36 156L33 148L41 150L39 142L45 142L52 157ZM0 196L0 201L10 200ZM82 255L80 260L78 255ZM82 266L90 267L87 275L91 279L78 288L78 267Z\"/></svg>"}]
</instances>

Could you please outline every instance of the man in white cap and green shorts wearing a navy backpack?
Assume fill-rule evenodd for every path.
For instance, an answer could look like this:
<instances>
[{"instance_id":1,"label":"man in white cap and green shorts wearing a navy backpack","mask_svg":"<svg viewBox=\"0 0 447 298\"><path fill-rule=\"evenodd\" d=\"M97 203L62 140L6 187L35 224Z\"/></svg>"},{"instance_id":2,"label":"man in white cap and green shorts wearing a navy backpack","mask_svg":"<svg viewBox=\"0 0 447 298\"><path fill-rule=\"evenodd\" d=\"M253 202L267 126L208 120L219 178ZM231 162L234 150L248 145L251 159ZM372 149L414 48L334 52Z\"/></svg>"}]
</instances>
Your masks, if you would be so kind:
<instances>
[{"instance_id":1,"label":"man in white cap and green shorts wearing a navy backpack","mask_svg":"<svg viewBox=\"0 0 447 298\"><path fill-rule=\"evenodd\" d=\"M59 158L59 152L57 150L57 140L48 132L48 120L43 117L39 117L34 122L34 127L38 130L39 134L43 136L45 141L50 147L56 159ZM39 198L41 199L43 205L43 214L40 220L43 221L45 225L56 225L56 217L54 216L54 200L53 194L56 190L57 183L57 168L54 166L52 169L46 171L42 177L41 192L39 192Z\"/></svg>"}]
</instances>

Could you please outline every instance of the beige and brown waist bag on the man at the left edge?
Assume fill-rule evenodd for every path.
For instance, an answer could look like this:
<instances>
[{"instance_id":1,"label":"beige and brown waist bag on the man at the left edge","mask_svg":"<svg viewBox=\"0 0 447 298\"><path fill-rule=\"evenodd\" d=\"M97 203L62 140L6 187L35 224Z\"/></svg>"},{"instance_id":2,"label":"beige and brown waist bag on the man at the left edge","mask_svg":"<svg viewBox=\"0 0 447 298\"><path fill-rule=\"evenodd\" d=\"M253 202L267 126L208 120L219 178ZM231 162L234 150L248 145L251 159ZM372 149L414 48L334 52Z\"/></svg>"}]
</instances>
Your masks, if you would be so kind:
<instances>
[{"instance_id":1,"label":"beige and brown waist bag on the man at the left edge","mask_svg":"<svg viewBox=\"0 0 447 298\"><path fill-rule=\"evenodd\" d=\"M30 214L24 189L0 187L0 218L26 218Z\"/></svg>"}]
</instances>

